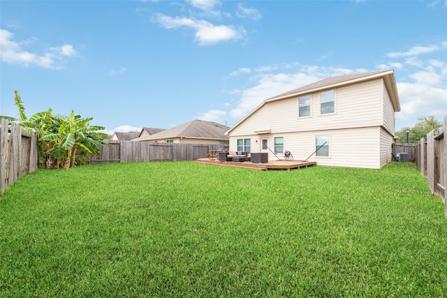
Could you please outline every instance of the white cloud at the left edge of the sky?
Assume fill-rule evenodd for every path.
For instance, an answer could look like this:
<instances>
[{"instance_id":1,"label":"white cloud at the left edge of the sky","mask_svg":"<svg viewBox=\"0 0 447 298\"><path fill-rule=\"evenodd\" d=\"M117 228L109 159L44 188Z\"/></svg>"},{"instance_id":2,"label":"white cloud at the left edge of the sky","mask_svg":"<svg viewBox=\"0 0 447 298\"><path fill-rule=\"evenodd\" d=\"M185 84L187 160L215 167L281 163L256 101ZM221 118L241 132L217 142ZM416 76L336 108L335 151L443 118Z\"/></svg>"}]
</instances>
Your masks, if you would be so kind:
<instances>
[{"instance_id":1,"label":"white cloud at the left edge of the sky","mask_svg":"<svg viewBox=\"0 0 447 298\"><path fill-rule=\"evenodd\" d=\"M43 68L60 68L60 61L64 57L75 57L78 55L73 45L62 45L61 47L50 47L43 54L36 54L22 49L29 41L18 43L13 41L14 34L8 30L0 29L0 56L1 61L8 64L20 64L22 66L41 66Z\"/></svg>"}]
</instances>

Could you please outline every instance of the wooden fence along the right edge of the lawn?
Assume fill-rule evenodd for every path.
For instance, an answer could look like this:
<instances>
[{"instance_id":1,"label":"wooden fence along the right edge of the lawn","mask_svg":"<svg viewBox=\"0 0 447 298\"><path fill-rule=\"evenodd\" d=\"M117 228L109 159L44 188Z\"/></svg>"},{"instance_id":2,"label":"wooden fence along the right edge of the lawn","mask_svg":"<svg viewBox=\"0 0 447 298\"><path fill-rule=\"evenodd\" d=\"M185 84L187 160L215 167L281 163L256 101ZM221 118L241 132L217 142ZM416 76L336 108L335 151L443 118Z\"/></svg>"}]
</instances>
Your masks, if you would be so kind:
<instances>
[{"instance_id":1,"label":"wooden fence along the right edge of the lawn","mask_svg":"<svg viewBox=\"0 0 447 298\"><path fill-rule=\"evenodd\" d=\"M416 144L416 165L420 174L427 177L428 186L433 195L439 195L446 206L447 216L447 116L444 117L444 127L441 133L434 135L431 131Z\"/></svg>"}]
</instances>

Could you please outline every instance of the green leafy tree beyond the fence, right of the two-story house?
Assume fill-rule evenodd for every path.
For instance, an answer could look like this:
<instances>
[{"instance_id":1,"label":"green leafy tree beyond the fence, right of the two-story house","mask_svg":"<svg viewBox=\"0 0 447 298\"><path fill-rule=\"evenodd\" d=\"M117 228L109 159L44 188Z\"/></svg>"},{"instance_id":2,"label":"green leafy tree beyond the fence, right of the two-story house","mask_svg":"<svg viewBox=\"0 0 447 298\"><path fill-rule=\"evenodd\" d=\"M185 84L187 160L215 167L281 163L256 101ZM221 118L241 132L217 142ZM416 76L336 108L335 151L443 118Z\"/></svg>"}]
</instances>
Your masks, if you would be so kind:
<instances>
[{"instance_id":1,"label":"green leafy tree beyond the fence, right of the two-story house","mask_svg":"<svg viewBox=\"0 0 447 298\"><path fill-rule=\"evenodd\" d=\"M437 135L442 125L441 121L434 119L434 116L419 117L418 123L413 128L404 127L396 132L396 135L399 137L397 142L406 143L406 131L409 131L409 143L416 143L422 138L427 140L427 133L434 131L434 134Z\"/></svg>"}]
</instances>

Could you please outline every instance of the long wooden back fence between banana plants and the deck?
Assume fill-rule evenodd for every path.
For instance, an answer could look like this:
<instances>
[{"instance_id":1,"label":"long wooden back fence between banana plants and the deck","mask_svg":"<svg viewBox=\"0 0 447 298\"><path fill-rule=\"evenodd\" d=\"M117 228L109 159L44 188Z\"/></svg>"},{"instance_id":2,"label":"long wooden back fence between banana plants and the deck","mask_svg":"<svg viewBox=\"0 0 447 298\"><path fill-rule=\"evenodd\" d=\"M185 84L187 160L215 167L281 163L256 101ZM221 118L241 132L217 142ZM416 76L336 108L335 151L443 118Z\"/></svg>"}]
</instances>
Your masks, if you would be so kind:
<instances>
[{"instance_id":1,"label":"long wooden back fence between banana plants and the deck","mask_svg":"<svg viewBox=\"0 0 447 298\"><path fill-rule=\"evenodd\" d=\"M92 156L91 163L132 163L150 161L194 161L206 158L219 144L176 144L108 140L110 147L101 147L100 156Z\"/></svg>"}]
</instances>

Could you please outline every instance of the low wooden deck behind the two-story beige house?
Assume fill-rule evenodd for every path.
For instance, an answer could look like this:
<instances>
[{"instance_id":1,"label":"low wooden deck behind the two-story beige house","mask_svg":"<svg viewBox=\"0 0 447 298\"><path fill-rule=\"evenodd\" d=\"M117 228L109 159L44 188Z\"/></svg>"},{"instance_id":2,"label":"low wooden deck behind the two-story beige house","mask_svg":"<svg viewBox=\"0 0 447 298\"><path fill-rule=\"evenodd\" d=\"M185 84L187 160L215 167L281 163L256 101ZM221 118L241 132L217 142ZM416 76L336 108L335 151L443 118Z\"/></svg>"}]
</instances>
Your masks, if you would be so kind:
<instances>
[{"instance_id":1,"label":"low wooden deck behind the two-story beige house","mask_svg":"<svg viewBox=\"0 0 447 298\"><path fill-rule=\"evenodd\" d=\"M198 158L196 163L205 165L220 165L222 167L241 167L249 170L291 170L300 167L309 167L316 165L314 161L268 161L268 163L251 163L251 161L235 162L235 161L219 161L219 159Z\"/></svg>"}]
</instances>

